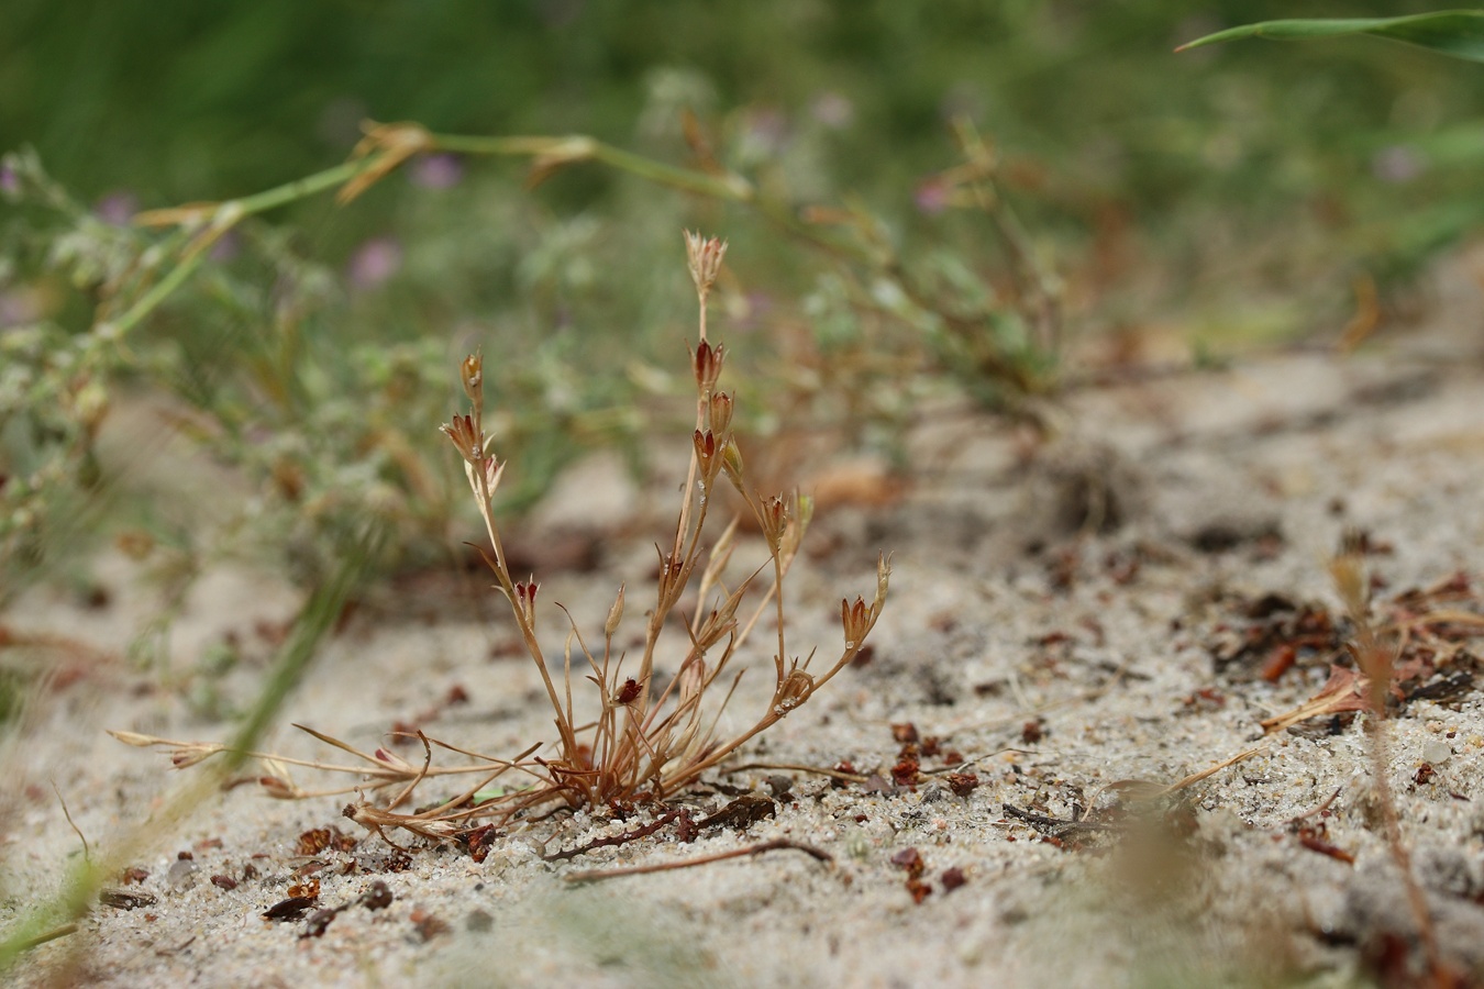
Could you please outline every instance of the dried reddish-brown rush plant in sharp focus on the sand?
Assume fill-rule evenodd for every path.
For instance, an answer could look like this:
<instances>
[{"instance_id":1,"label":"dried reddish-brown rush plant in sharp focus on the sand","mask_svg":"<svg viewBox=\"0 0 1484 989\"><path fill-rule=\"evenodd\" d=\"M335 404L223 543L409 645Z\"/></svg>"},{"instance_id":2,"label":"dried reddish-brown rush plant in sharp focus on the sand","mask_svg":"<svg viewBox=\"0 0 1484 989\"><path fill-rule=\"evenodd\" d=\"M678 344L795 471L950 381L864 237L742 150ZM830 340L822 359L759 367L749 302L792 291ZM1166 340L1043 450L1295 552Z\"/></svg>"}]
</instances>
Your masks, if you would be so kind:
<instances>
[{"instance_id":1,"label":"dried reddish-brown rush plant in sharp focus on the sand","mask_svg":"<svg viewBox=\"0 0 1484 989\"><path fill-rule=\"evenodd\" d=\"M717 390L726 348L706 340L706 298L721 268L726 243L687 233L686 249L690 276L700 301L700 340L690 354L696 378L696 429L692 433L690 469L674 541L668 547L656 547L659 552L656 598L646 617L644 649L637 661L631 661L626 654L614 654L613 644L625 611L622 587L604 621L601 648L591 648L576 621L567 615L568 630L561 663L554 667L548 658L548 649L537 635L539 584L534 578L525 581L513 578L500 538L500 526L494 517L493 498L505 463L491 452L493 437L484 431L481 390L484 368L478 354L470 356L460 369L464 394L470 403L469 412L456 415L442 430L463 457L469 488L490 538L485 560L494 571L500 592L510 602L521 639L546 688L556 722L555 758L537 755L542 746L533 746L513 759L497 759L430 740L418 732L424 758L421 765L414 765L384 749L362 752L319 731L297 725L321 741L353 755L356 762L341 765L288 759L270 753L246 753L264 764L266 774L258 781L270 795L300 799L359 793L361 798L344 811L352 820L383 838L386 838L384 829L401 827L438 839L472 830L476 820L508 820L518 811L542 805L604 807L628 801L663 801L695 783L702 773L720 764L754 735L778 724L856 657L884 606L889 563L884 556L877 562L876 595L871 603L862 598L840 602L844 646L838 658L828 666L812 666L813 652L803 661L797 657L788 658L784 578L798 552L809 522L810 503L797 492L788 497L760 495L746 480L742 454L732 431L733 400L729 393ZM723 477L742 495L763 534L769 555L767 560L736 587L727 587L724 577L736 547L741 519L733 519L721 531L709 552L705 550L702 538ZM767 590L757 598L752 592L760 577L767 583ZM712 603L709 609L697 608L697 612L686 620L678 614L678 603L692 584L697 602ZM755 601L749 603L749 598ZM745 603L749 603L749 608L743 608ZM738 672L727 681L721 678L729 673L738 649L769 611L778 624L773 695L749 728L730 737L718 734L720 716L742 673ZM684 630L683 641L677 635L680 629ZM665 635L666 630L669 635ZM678 657L677 673L663 687L657 687L656 655L662 645L674 642L681 642L684 655ZM586 667L586 673L580 672L582 667ZM597 688L597 716L588 721L579 719L573 703L574 675ZM715 700L718 694L720 701ZM122 731L113 734L128 744L171 749L177 768L194 765L227 750L220 743L183 743ZM470 756L473 764L433 767L435 746ZM291 765L352 773L361 778L356 784L310 792L289 783ZM528 786L502 787L500 795L484 799L493 789L491 783L506 773L522 774L531 781ZM420 783L445 775L463 775L475 781L429 810L398 813ZM368 793L381 795L386 802L378 805L367 798Z\"/></svg>"}]
</instances>

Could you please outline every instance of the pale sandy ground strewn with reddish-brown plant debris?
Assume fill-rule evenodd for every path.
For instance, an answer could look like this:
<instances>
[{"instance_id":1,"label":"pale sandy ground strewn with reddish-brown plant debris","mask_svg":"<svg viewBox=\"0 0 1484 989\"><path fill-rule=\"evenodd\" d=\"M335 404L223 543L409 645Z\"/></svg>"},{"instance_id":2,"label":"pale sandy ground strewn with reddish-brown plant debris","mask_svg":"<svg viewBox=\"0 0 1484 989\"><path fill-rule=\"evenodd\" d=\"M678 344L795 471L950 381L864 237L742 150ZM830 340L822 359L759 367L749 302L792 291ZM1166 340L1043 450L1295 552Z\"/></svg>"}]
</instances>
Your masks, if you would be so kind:
<instances>
[{"instance_id":1,"label":"pale sandy ground strewn with reddish-brown plant debris","mask_svg":"<svg viewBox=\"0 0 1484 989\"><path fill-rule=\"evenodd\" d=\"M340 816L344 798L270 801L242 786L183 821L147 826L151 841L134 859L144 876L114 884L142 900L96 906L76 934L37 947L9 979L1353 985L1414 936L1364 719L1327 716L1264 738L1258 722L1313 695L1331 652L1303 641L1293 669L1273 681L1261 670L1298 641L1303 606L1342 621L1325 562L1346 526L1367 532L1367 562L1383 584L1377 614L1395 617L1386 602L1399 592L1460 572L1474 584L1454 581L1447 606L1477 608L1478 301L1465 292L1454 308L1439 307L1434 329L1343 362L1290 354L1083 390L1067 402L1066 436L1036 449L1003 423L925 411L910 442L916 483L886 507L824 512L812 534L821 549L800 562L789 592L791 649L837 648L838 598L868 593L877 550L892 552L892 598L871 661L736 761L849 762L864 783L778 768L718 773L684 801L697 820L739 793L773 799L773 814L705 827L690 844L666 827L562 863L542 853L619 835L651 811L628 821L597 813L515 821L482 863L421 841L399 859ZM543 596L597 627L619 580L631 595L644 586L659 531L646 506L663 491L623 492L601 464L583 470L580 491L610 477L617 494L608 500L626 506L616 512L622 522L595 572L548 574ZM559 523L554 509L546 525ZM120 658L150 609L135 565L105 558L98 581L110 590L105 608L37 592L4 618L91 642L98 655L34 703L10 743L0 925L55 893L80 854L58 793L96 851L148 821L187 778L104 728L202 740L230 730L200 715L188 682L162 689L159 676ZM236 636L245 663L221 689L245 703L294 601L261 574L214 572L177 620L172 652L188 669ZM542 620L559 629L558 612ZM381 592L331 642L267 744L324 756L289 722L364 747L408 722L456 744L518 752L549 737L551 721L512 635L493 602L456 583ZM1258 646L1244 652L1244 642ZM1484 977L1480 648L1451 644L1408 688L1389 722L1386 765L1441 949L1474 977ZM764 646L754 652L767 661ZM732 722L766 703L764 679L743 679ZM456 688L466 698L448 703ZM914 737L922 775L899 786L892 770ZM1172 784L1254 746L1260 752L1153 810L1131 796L1128 781ZM975 784L951 780L953 767ZM295 780L324 783L303 771ZM1083 824L1067 824L1079 817ZM359 842L301 854L306 830L331 826ZM782 850L564 881L579 869L773 838L830 861ZM303 918L263 916L307 879L319 882L310 912L349 904L318 937ZM365 899L375 882L390 894L381 909Z\"/></svg>"}]
</instances>

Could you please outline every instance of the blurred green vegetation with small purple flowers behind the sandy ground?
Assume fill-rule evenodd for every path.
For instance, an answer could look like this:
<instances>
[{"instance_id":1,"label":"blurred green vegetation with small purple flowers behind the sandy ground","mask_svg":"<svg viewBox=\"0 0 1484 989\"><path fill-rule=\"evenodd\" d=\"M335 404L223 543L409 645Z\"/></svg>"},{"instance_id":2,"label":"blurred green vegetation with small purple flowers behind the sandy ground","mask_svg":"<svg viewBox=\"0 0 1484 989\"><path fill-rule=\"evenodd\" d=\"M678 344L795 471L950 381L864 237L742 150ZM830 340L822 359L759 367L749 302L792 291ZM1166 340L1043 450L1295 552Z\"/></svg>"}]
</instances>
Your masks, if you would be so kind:
<instances>
[{"instance_id":1,"label":"blurred green vegetation with small purple flowers behind the sandy ground","mask_svg":"<svg viewBox=\"0 0 1484 989\"><path fill-rule=\"evenodd\" d=\"M435 429L476 345L510 509L586 448L637 461L684 411L659 399L684 394L686 225L732 240L717 325L764 433L890 452L925 393L1024 411L1109 362L1333 340L1358 279L1385 301L1481 219L1484 76L1371 40L1171 49L1434 6L7 0L0 150L34 154L0 173L0 603L108 543L313 584L375 519L383 566L435 562L467 529ZM137 211L331 168L365 119L592 135L767 209L418 156L242 222L117 332L188 248ZM240 497L151 479L166 434Z\"/></svg>"}]
</instances>

